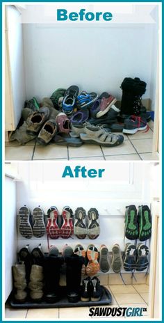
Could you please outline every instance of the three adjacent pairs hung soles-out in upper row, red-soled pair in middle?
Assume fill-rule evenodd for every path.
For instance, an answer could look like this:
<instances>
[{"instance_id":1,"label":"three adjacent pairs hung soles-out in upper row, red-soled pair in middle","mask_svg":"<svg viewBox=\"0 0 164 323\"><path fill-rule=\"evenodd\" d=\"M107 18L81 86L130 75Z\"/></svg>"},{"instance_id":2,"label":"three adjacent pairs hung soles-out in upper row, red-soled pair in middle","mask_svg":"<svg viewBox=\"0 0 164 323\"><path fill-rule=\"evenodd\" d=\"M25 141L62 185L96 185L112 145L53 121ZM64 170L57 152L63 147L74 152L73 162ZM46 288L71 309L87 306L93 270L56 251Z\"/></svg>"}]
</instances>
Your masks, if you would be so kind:
<instances>
[{"instance_id":1,"label":"three adjacent pairs hung soles-out in upper row, red-soled pair in middle","mask_svg":"<svg viewBox=\"0 0 164 323\"><path fill-rule=\"evenodd\" d=\"M79 239L97 239L100 234L99 212L91 207L86 215L83 207L73 213L71 207L65 206L59 214L56 206L49 207L47 215L42 208L35 207L31 214L29 208L20 207L17 216L19 233L26 239L43 237L47 233L50 239L68 239L76 235Z\"/></svg>"}]
</instances>

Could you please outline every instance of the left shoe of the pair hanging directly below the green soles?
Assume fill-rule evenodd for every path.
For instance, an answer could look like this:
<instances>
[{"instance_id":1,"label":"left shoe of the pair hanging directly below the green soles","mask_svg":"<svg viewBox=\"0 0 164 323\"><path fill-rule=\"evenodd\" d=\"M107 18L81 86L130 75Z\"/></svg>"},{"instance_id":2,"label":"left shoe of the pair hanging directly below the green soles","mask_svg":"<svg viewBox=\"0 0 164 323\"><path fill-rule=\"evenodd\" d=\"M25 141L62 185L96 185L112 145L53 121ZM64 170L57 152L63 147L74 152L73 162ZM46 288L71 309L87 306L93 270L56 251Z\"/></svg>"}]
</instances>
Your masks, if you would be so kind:
<instances>
[{"instance_id":1,"label":"left shoe of the pair hanging directly below the green soles","mask_svg":"<svg viewBox=\"0 0 164 323\"><path fill-rule=\"evenodd\" d=\"M137 250L134 244L126 244L124 250L124 270L133 271L136 268Z\"/></svg>"}]
</instances>

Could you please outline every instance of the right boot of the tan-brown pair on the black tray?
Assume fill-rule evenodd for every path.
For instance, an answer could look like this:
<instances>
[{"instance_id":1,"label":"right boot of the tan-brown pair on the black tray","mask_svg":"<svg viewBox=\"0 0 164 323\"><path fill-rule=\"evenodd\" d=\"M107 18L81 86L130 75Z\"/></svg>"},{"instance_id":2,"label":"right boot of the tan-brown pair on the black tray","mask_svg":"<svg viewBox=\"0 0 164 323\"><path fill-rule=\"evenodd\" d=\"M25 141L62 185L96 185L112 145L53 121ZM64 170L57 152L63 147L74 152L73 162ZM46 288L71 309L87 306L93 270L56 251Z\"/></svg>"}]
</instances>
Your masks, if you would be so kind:
<instances>
[{"instance_id":1,"label":"right boot of the tan-brown pair on the black tray","mask_svg":"<svg viewBox=\"0 0 164 323\"><path fill-rule=\"evenodd\" d=\"M33 301L41 301L43 297L43 267L33 265L31 267L30 283L28 283L30 289L30 297Z\"/></svg>"}]
</instances>

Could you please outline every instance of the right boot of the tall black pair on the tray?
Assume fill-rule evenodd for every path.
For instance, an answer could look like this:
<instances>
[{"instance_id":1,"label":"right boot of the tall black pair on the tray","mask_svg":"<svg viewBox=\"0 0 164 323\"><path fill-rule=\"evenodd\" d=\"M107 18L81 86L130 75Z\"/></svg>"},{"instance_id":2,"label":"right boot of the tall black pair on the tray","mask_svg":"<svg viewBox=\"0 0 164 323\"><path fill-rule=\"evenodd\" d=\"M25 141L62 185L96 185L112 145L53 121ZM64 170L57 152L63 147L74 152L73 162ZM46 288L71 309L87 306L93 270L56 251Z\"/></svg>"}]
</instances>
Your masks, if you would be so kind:
<instances>
[{"instance_id":1,"label":"right boot of the tall black pair on the tray","mask_svg":"<svg viewBox=\"0 0 164 323\"><path fill-rule=\"evenodd\" d=\"M65 258L66 283L68 301L76 303L80 299L81 268L84 258L79 255L71 255Z\"/></svg>"}]
</instances>

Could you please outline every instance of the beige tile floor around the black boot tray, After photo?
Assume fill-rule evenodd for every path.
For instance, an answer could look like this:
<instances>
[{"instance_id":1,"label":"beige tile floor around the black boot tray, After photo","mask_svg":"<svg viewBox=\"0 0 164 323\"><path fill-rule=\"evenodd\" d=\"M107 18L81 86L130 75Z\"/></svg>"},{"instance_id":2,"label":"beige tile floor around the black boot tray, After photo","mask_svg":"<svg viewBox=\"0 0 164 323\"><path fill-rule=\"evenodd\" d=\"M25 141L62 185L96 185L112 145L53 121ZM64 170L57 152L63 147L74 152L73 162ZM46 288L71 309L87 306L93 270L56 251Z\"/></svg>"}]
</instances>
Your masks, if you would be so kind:
<instances>
[{"instance_id":1,"label":"beige tile floor around the black boot tray, After photo","mask_svg":"<svg viewBox=\"0 0 164 323\"><path fill-rule=\"evenodd\" d=\"M108 307L139 307L147 308L143 315L148 317L148 297L149 286L147 284L140 285L110 285L106 286L112 296L113 302ZM42 308L42 309L22 309L17 310L6 307L5 319L25 319L25 320L71 320L76 316L76 320L95 320L99 317L90 317L89 307L76 307L72 308ZM108 317L113 320L114 317ZM116 317L117 318L117 317ZM142 317L138 317L138 320L142 320Z\"/></svg>"}]
</instances>

